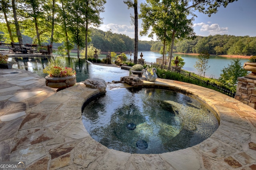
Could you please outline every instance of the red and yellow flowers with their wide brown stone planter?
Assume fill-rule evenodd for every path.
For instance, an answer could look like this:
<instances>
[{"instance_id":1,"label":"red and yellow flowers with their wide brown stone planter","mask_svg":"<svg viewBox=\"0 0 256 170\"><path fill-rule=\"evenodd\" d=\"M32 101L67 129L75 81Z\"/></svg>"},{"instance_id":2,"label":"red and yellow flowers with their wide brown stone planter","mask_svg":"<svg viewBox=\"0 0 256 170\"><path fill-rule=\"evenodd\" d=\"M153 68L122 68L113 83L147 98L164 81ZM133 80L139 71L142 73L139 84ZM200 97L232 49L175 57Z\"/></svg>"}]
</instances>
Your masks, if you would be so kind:
<instances>
[{"instance_id":1,"label":"red and yellow flowers with their wide brown stone planter","mask_svg":"<svg viewBox=\"0 0 256 170\"><path fill-rule=\"evenodd\" d=\"M76 84L76 71L71 67L62 66L54 59L49 59L43 72L48 74L44 77L48 87L65 89Z\"/></svg>"}]
</instances>

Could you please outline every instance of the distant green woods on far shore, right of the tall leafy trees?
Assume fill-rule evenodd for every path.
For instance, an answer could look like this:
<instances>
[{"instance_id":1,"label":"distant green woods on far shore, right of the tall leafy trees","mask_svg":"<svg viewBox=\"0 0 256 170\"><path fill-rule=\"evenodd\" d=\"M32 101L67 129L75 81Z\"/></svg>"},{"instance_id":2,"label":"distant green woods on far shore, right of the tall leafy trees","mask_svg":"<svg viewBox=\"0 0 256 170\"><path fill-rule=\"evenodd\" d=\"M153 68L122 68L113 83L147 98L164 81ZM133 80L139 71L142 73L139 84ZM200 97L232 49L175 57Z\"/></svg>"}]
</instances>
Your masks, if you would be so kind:
<instances>
[{"instance_id":1,"label":"distant green woods on far shore, right of the tall leafy trees","mask_svg":"<svg viewBox=\"0 0 256 170\"><path fill-rule=\"evenodd\" d=\"M208 51L216 55L256 55L256 37L250 36L197 36L194 40L178 40L174 47L179 53Z\"/></svg>"}]
</instances>

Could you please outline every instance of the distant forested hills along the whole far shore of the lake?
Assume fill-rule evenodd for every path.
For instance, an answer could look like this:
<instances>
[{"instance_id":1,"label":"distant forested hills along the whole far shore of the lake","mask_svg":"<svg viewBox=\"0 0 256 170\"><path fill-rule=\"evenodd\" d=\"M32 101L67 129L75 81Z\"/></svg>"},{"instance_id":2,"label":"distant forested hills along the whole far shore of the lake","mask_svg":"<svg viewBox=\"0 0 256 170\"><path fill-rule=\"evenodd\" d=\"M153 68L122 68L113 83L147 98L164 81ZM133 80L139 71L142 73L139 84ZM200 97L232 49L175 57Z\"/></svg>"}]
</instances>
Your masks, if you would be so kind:
<instances>
[{"instance_id":1,"label":"distant forested hills along the whole far shore of the lake","mask_svg":"<svg viewBox=\"0 0 256 170\"><path fill-rule=\"evenodd\" d=\"M91 28L91 42L94 47L101 51L132 51L134 39L124 35L112 33L111 30L104 32ZM140 41L140 51L162 51L161 41ZM249 36L196 36L194 39L177 40L174 43L174 52L177 53L201 53L208 51L215 55L256 55L256 37ZM168 50L167 50L168 52Z\"/></svg>"}]
</instances>

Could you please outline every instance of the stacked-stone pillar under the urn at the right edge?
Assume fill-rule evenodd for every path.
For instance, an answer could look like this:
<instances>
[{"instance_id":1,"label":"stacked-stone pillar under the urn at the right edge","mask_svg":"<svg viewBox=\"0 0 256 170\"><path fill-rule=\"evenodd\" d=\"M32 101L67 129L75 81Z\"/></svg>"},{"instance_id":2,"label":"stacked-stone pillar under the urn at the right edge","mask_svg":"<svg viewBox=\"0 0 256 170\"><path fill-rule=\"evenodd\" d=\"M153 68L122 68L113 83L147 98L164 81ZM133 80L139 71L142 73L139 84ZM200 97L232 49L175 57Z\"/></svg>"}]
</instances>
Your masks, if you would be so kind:
<instances>
[{"instance_id":1,"label":"stacked-stone pillar under the urn at the right edge","mask_svg":"<svg viewBox=\"0 0 256 170\"><path fill-rule=\"evenodd\" d=\"M256 109L256 79L238 77L235 99Z\"/></svg>"}]
</instances>

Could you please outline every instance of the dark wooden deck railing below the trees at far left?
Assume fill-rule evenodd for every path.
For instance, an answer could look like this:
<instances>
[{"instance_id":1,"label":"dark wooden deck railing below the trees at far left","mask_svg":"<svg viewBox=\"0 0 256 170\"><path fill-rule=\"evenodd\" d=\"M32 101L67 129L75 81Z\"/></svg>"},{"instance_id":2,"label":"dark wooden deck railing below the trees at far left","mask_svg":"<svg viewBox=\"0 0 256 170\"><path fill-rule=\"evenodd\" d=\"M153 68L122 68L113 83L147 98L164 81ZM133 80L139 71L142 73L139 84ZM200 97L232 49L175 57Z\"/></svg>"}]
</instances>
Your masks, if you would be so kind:
<instances>
[{"instance_id":1,"label":"dark wooden deck railing below the trees at far left","mask_svg":"<svg viewBox=\"0 0 256 170\"><path fill-rule=\"evenodd\" d=\"M15 43L0 43L0 51L9 51L14 53L42 53L50 55L52 47L50 45L36 44L15 44Z\"/></svg>"}]
</instances>

